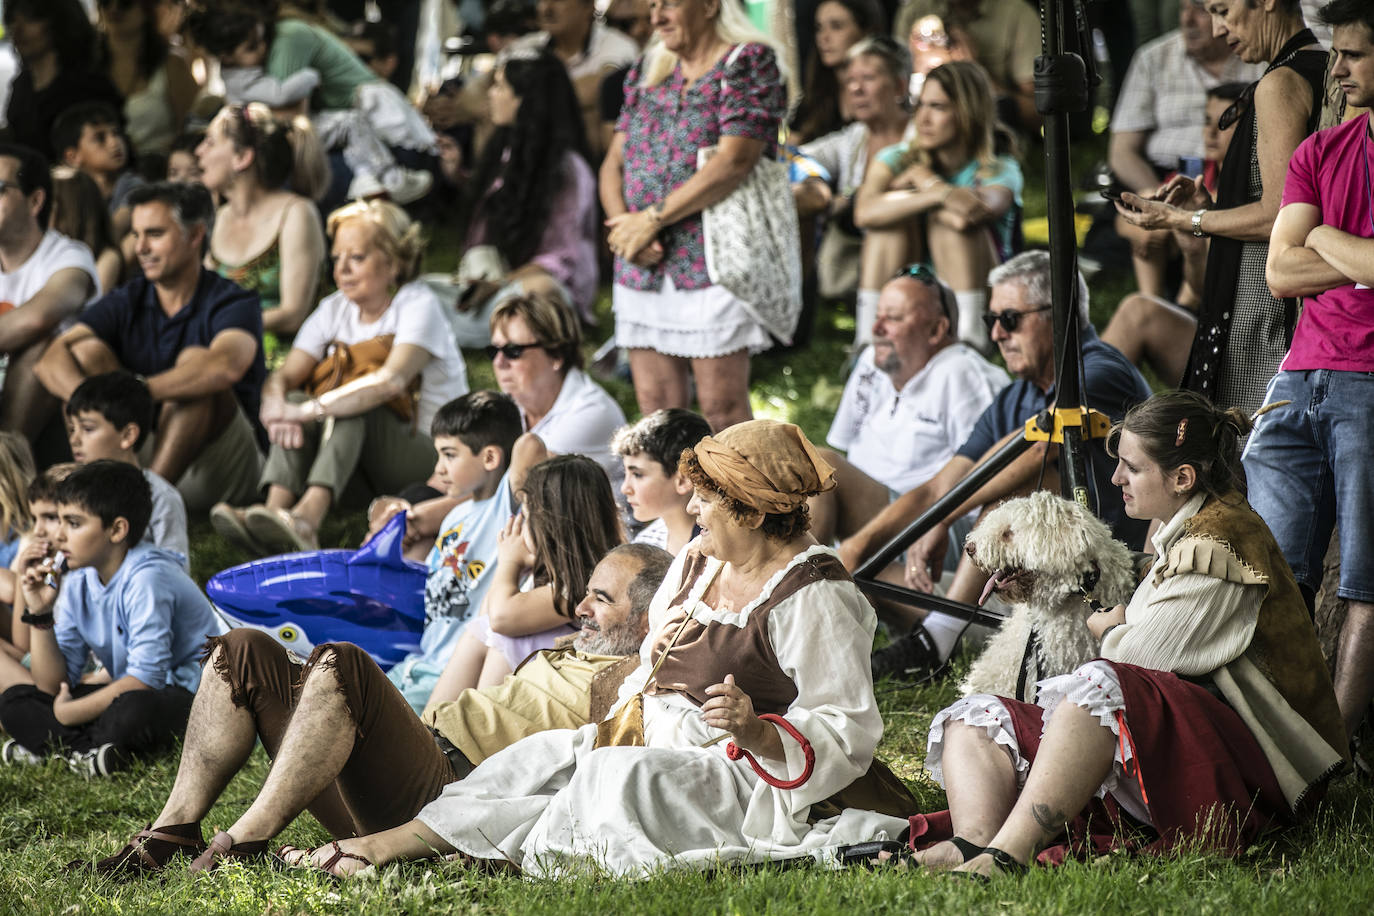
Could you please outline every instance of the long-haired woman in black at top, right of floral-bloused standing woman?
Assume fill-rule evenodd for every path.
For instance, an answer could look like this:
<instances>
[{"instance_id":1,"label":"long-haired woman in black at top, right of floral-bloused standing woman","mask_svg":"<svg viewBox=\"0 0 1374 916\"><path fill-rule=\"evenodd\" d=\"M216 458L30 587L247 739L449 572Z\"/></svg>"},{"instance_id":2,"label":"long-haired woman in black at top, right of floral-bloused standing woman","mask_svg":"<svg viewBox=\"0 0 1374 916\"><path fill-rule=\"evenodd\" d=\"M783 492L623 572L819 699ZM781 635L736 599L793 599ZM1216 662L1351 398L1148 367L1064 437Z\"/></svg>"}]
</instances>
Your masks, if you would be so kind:
<instances>
[{"instance_id":1,"label":"long-haired woman in black at top, right of floral-bloused standing woman","mask_svg":"<svg viewBox=\"0 0 1374 916\"><path fill-rule=\"evenodd\" d=\"M845 99L849 51L886 27L877 0L822 0L815 10L816 47L807 56L801 102L790 122L789 143L797 144L834 133L859 117Z\"/></svg>"}]
</instances>

